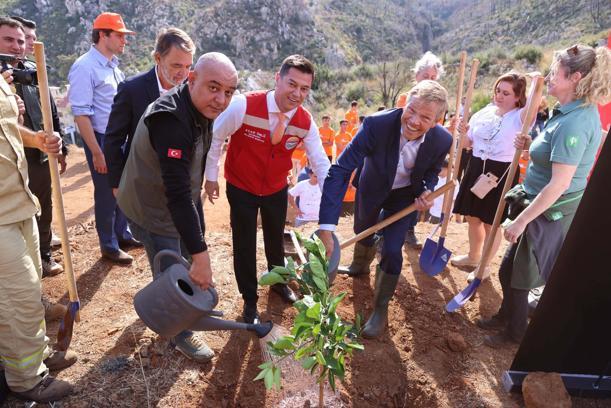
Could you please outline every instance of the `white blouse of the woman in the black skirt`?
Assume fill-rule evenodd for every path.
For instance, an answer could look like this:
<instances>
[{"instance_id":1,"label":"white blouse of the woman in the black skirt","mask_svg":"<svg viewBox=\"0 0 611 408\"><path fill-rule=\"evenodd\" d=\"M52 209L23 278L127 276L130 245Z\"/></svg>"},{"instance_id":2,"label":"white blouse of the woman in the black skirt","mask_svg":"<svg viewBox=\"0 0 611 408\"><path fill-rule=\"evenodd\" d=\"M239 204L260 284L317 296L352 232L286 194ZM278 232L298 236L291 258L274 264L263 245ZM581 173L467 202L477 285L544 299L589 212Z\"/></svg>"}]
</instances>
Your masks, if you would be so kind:
<instances>
[{"instance_id":1,"label":"white blouse of the woman in the black skirt","mask_svg":"<svg viewBox=\"0 0 611 408\"><path fill-rule=\"evenodd\" d=\"M522 109L516 108L499 116L496 105L491 103L475 113L467 132L473 142L473 155L482 160L511 162L515 153L513 140L522 129Z\"/></svg>"}]
</instances>

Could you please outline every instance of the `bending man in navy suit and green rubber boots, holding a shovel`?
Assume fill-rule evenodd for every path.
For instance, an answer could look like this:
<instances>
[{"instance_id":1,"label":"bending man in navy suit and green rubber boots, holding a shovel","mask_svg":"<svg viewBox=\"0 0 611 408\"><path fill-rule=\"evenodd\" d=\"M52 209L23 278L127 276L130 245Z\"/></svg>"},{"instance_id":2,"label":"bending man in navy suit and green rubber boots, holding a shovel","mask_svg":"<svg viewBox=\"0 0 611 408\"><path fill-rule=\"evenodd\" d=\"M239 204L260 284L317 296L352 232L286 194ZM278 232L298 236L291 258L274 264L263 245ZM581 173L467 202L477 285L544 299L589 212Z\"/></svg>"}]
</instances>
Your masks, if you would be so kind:
<instances>
[{"instance_id":1,"label":"bending man in navy suit and green rubber boots, holding a shovel","mask_svg":"<svg viewBox=\"0 0 611 408\"><path fill-rule=\"evenodd\" d=\"M358 133L329 170L320 203L320 238L327 253L333 249L344 196L354 169L357 188L354 232L359 233L412 203L419 211L432 206L427 196L437 184L452 136L437 125L447 109L447 91L434 81L421 81L408 93L405 108L391 109L365 119ZM363 336L382 334L403 263L401 248L408 228L404 217L382 231L382 259L376 270L374 312ZM349 274L369 273L375 255L374 238L358 242Z\"/></svg>"}]
</instances>

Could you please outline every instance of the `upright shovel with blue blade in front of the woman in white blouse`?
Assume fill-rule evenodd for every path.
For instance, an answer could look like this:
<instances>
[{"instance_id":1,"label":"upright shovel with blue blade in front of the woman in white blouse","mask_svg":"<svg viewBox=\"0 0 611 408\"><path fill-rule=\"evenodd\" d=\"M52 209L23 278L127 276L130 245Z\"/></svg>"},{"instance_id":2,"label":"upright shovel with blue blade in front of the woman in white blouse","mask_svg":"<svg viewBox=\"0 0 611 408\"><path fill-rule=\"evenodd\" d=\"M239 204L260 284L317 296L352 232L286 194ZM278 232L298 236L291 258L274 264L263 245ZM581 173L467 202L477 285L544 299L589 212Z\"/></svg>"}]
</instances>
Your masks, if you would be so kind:
<instances>
[{"instance_id":1,"label":"upright shovel with blue blade in front of the woman in white blouse","mask_svg":"<svg viewBox=\"0 0 611 408\"><path fill-rule=\"evenodd\" d=\"M462 93L463 93L463 81L465 78L465 65L467 63L467 53L465 51L460 53L460 68L458 73L458 88L456 91L456 112L460 112L460 103L462 102ZM471 65L471 78L469 80L469 88L467 90L467 98L468 101L465 102L464 112L468 112L469 105L471 104L471 95L473 94L473 86L475 85L475 77L477 75L477 66L479 65L479 61L477 59L473 60L473 64ZM452 146L450 147L450 159L448 160L448 174L450 179L456 180L455 172L453 169L457 168L457 165L454 164L456 146L462 146L461 135L458 132L458 126L454 127L454 131L452 132ZM461 150L459 150L461 152ZM458 154L458 158L460 159L460 154ZM446 232L448 230L448 223L450 221L450 213L452 211L452 202L454 200L454 189L449 190L443 197L443 211L440 224L441 225L441 233L439 234L439 242L433 241L432 237L436 234L439 229L439 225L435 227L433 233L424 243L422 247L422 251L420 252L420 269L423 270L429 276L435 276L446 267L448 264L448 259L452 255L447 248L444 247L446 240Z\"/></svg>"}]
</instances>

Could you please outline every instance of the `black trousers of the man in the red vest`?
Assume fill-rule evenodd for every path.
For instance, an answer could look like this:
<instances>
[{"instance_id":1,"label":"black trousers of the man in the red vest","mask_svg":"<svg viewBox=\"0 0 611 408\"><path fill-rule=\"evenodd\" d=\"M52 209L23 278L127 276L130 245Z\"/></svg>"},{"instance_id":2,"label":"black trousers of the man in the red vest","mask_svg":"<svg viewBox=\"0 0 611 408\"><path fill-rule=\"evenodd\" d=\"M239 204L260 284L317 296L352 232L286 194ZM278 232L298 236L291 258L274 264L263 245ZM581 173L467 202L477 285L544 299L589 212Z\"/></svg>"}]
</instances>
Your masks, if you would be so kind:
<instances>
[{"instance_id":1,"label":"black trousers of the man in the red vest","mask_svg":"<svg viewBox=\"0 0 611 408\"><path fill-rule=\"evenodd\" d=\"M268 196L257 196L227 183L233 240L233 269L246 303L257 296L257 215L261 211L267 269L284 266L284 223L288 187Z\"/></svg>"}]
</instances>

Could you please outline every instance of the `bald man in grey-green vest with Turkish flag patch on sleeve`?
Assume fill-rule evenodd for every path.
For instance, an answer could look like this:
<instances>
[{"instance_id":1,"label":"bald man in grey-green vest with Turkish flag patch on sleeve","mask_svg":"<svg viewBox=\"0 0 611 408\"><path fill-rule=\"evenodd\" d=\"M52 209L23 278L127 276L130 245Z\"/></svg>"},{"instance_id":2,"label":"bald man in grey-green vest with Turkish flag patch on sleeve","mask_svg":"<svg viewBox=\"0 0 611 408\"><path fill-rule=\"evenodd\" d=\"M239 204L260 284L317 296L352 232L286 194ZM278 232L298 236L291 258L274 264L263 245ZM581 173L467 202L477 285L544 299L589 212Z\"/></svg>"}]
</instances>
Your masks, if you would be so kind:
<instances>
[{"instance_id":1,"label":"bald man in grey-green vest with Turkish flag patch on sleeve","mask_svg":"<svg viewBox=\"0 0 611 408\"><path fill-rule=\"evenodd\" d=\"M203 170L213 120L229 105L237 83L229 58L214 52L202 55L187 82L162 95L142 115L117 193L151 268L163 249L190 255L189 275L203 289L214 286L200 198ZM188 254L182 253L181 241ZM161 270L170 263L162 262ZM172 343L198 362L214 355L191 331L180 333Z\"/></svg>"}]
</instances>

